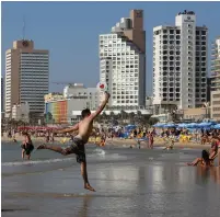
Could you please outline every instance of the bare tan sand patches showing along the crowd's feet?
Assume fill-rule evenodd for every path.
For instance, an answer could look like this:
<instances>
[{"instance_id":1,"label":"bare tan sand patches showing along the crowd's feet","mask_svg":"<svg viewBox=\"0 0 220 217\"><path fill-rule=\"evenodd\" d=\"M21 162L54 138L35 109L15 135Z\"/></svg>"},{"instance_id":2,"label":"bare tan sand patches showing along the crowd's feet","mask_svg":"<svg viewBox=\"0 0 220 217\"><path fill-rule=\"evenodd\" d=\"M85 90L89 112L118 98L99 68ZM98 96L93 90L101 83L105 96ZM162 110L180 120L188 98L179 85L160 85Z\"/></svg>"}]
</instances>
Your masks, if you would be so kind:
<instances>
[{"instance_id":1,"label":"bare tan sand patches showing along the crowd's feet","mask_svg":"<svg viewBox=\"0 0 220 217\"><path fill-rule=\"evenodd\" d=\"M55 145L65 145L66 142L61 142L62 139L66 137L55 137ZM22 142L23 137L22 136L16 136L15 139L18 142ZM32 137L33 142L44 142L45 144L45 138L44 137ZM9 141L11 141L9 144ZM12 138L8 138L7 136L1 137L1 142L5 142L8 145L13 145ZM14 142L18 144L18 142ZM49 142L51 144L51 142ZM137 141L135 139L120 139L120 138L107 138L106 139L106 146L121 146L121 147L127 147L127 146L136 146ZM192 148L192 149L207 149L210 148L211 145L201 145L201 144L195 144L195 142L174 142L174 149L175 148ZM147 148L147 142L142 141L141 147ZM161 140L155 139L153 147L165 147L164 142Z\"/></svg>"}]
</instances>

